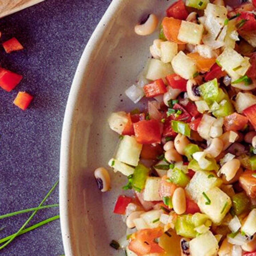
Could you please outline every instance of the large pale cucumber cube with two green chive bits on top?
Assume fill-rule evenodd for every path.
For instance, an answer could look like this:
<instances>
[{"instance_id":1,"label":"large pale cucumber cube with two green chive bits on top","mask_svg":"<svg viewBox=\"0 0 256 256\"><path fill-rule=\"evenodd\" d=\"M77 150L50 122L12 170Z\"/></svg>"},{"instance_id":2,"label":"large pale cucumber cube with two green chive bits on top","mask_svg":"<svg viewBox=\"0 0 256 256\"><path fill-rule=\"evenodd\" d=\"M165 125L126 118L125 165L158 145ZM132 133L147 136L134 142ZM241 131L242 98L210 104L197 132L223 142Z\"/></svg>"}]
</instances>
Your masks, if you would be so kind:
<instances>
[{"instance_id":1,"label":"large pale cucumber cube with two green chive bits on top","mask_svg":"<svg viewBox=\"0 0 256 256\"><path fill-rule=\"evenodd\" d=\"M231 205L230 197L218 187L201 190L201 196L198 198L201 212L207 214L215 224L223 220Z\"/></svg>"}]
</instances>

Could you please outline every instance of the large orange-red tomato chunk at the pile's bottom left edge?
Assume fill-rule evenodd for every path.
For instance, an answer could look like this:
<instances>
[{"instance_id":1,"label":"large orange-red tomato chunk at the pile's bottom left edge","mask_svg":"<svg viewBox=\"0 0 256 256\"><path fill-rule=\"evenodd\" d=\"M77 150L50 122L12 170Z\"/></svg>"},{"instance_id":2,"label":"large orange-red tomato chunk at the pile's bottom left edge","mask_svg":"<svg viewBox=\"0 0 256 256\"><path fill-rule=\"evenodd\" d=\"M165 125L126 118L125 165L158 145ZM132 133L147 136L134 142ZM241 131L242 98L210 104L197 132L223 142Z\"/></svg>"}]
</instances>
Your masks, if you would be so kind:
<instances>
[{"instance_id":1,"label":"large orange-red tomato chunk at the pile's bottom left edge","mask_svg":"<svg viewBox=\"0 0 256 256\"><path fill-rule=\"evenodd\" d=\"M138 256L151 253L165 253L165 250L154 241L163 234L164 232L160 227L141 229L132 235L128 248Z\"/></svg>"}]
</instances>

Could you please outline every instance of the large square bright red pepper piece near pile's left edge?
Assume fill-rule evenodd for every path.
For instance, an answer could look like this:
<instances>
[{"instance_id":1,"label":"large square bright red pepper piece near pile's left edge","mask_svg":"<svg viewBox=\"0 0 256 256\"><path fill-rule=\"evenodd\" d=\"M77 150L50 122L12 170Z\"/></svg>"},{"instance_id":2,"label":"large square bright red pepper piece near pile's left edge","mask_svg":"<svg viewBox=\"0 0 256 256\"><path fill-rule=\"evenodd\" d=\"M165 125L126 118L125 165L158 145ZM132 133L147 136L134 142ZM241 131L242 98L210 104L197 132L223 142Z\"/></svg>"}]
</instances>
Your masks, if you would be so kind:
<instances>
[{"instance_id":1,"label":"large square bright red pepper piece near pile's left edge","mask_svg":"<svg viewBox=\"0 0 256 256\"><path fill-rule=\"evenodd\" d=\"M138 143L152 144L161 142L161 132L157 120L142 120L133 124Z\"/></svg>"}]
</instances>

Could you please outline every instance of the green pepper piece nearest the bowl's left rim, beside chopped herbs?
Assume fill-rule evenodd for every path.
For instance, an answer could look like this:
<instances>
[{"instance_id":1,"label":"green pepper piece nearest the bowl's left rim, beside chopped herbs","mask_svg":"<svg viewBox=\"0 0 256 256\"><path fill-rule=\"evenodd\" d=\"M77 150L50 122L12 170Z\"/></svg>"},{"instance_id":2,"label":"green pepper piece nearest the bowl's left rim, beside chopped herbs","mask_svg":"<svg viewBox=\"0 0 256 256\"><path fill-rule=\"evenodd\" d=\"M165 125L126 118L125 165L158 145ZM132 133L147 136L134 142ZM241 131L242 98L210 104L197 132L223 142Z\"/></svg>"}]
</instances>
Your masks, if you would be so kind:
<instances>
[{"instance_id":1,"label":"green pepper piece nearest the bowl's left rim, beside chopped herbs","mask_svg":"<svg viewBox=\"0 0 256 256\"><path fill-rule=\"evenodd\" d=\"M140 192L145 187L146 179L149 175L149 169L144 166L143 164L138 164L138 166L135 167L134 173L132 176L132 187Z\"/></svg>"}]
</instances>

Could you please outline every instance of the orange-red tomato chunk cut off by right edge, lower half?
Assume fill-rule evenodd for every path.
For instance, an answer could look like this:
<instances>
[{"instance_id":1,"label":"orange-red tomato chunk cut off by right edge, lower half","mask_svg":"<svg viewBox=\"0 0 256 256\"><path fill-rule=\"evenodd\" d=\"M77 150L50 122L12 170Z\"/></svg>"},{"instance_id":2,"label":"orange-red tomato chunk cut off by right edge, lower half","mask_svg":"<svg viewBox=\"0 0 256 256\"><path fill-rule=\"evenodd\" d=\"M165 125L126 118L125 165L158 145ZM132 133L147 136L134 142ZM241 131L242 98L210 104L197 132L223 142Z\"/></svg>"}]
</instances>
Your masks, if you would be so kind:
<instances>
[{"instance_id":1,"label":"orange-red tomato chunk cut off by right edge, lower half","mask_svg":"<svg viewBox=\"0 0 256 256\"><path fill-rule=\"evenodd\" d=\"M251 170L246 170L239 177L239 184L244 189L250 198L256 197L256 178L252 176L255 173Z\"/></svg>"}]
</instances>

